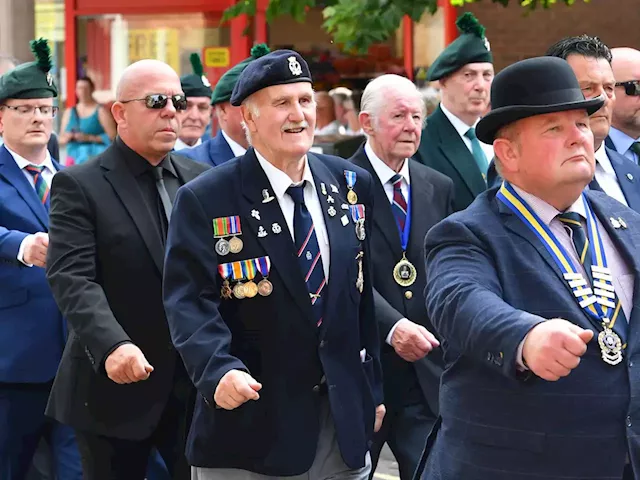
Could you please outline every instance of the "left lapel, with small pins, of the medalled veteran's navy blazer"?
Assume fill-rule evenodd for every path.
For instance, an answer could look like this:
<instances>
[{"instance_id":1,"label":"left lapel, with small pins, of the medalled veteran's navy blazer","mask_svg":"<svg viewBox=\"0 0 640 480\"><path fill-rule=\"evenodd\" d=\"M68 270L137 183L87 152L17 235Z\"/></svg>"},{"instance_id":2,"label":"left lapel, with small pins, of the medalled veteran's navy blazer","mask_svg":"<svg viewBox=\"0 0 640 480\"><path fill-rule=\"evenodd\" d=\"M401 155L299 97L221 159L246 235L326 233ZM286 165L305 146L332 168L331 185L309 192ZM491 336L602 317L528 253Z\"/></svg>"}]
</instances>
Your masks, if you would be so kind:
<instances>
[{"instance_id":1,"label":"left lapel, with small pins, of the medalled veteran's navy blazer","mask_svg":"<svg viewBox=\"0 0 640 480\"><path fill-rule=\"evenodd\" d=\"M271 268L278 270L282 283L298 308L308 318L313 318L309 292L298 267L291 232L287 227L277 199L273 198L264 202L262 192L266 191L268 196L273 197L273 189L258 163L253 148L247 150L247 153L240 157L240 175L242 194L246 200L241 212L243 221L249 226L250 234L258 238L271 259ZM258 212L258 215L255 212ZM280 233L276 234L273 231L275 224L280 226ZM261 231L264 231L266 235L259 235Z\"/></svg>"}]
</instances>

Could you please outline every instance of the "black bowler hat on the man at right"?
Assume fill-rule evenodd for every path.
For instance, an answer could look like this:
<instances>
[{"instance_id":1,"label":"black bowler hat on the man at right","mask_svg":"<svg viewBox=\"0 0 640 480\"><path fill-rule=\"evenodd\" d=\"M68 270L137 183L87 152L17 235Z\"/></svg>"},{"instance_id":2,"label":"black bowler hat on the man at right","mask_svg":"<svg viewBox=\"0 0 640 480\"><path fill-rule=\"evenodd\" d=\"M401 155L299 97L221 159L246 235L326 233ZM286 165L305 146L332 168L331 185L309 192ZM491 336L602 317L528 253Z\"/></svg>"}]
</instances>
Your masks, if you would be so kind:
<instances>
[{"instance_id":1,"label":"black bowler hat on the man at right","mask_svg":"<svg viewBox=\"0 0 640 480\"><path fill-rule=\"evenodd\" d=\"M603 97L585 100L566 60L529 58L495 76L491 84L492 110L478 122L476 136L485 143L493 143L498 130L516 120L580 109L592 115L603 104Z\"/></svg>"}]
</instances>

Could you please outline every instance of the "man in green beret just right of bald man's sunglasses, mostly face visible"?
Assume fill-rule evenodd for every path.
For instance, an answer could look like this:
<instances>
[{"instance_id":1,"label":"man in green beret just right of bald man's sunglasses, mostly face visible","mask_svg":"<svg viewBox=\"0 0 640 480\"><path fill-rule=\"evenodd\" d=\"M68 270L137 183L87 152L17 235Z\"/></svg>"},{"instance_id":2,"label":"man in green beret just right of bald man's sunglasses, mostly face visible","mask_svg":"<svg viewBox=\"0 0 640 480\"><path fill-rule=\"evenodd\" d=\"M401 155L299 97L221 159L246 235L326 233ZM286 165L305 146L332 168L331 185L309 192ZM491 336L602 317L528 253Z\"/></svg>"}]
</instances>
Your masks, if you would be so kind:
<instances>
[{"instance_id":1,"label":"man in green beret just right of bald man's sunglasses, mostly face visible","mask_svg":"<svg viewBox=\"0 0 640 480\"><path fill-rule=\"evenodd\" d=\"M202 144L202 137L211 120L211 84L204 74L200 55L192 53L193 73L180 78L182 90L187 96L187 109L178 112L182 117L182 127L174 150L184 150Z\"/></svg>"}]
</instances>

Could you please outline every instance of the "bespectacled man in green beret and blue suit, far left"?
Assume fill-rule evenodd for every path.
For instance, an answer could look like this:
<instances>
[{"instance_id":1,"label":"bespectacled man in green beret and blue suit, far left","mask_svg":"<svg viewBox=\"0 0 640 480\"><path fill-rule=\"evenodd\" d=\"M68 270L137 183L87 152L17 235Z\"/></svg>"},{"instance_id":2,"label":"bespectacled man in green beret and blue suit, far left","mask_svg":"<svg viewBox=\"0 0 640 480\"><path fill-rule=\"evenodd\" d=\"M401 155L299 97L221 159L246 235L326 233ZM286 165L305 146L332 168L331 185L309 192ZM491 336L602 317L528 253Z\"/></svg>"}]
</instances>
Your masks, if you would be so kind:
<instances>
[{"instance_id":1,"label":"bespectacled man in green beret and blue suit, far left","mask_svg":"<svg viewBox=\"0 0 640 480\"><path fill-rule=\"evenodd\" d=\"M57 478L80 480L73 430L44 414L67 329L43 268L58 90L47 41L31 48L35 62L0 76L0 478L24 479L44 437Z\"/></svg>"}]
</instances>

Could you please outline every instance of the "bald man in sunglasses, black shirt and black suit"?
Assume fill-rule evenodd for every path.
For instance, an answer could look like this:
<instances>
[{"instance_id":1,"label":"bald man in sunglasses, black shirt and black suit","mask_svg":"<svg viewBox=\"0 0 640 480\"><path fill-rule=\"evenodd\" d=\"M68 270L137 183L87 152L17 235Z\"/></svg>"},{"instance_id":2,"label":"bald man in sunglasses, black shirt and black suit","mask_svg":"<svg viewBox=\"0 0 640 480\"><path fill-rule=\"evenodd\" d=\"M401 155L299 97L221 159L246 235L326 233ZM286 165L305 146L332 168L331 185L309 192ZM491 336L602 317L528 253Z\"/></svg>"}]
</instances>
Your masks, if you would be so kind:
<instances>
[{"instance_id":1,"label":"bald man in sunglasses, black shirt and black suit","mask_svg":"<svg viewBox=\"0 0 640 480\"><path fill-rule=\"evenodd\" d=\"M72 335L47 414L76 430L85 480L142 480L152 447L189 478L194 390L161 283L175 193L207 169L170 153L186 106L171 67L130 65L111 109L118 137L53 181L47 278Z\"/></svg>"}]
</instances>

